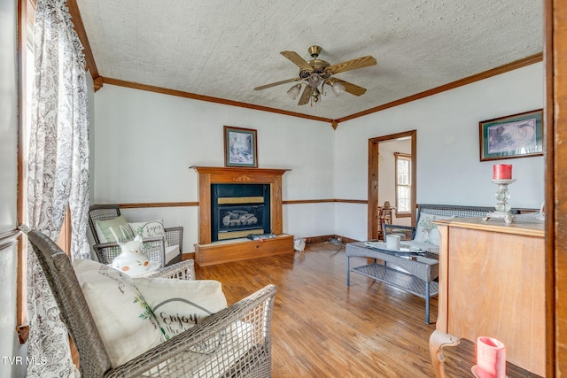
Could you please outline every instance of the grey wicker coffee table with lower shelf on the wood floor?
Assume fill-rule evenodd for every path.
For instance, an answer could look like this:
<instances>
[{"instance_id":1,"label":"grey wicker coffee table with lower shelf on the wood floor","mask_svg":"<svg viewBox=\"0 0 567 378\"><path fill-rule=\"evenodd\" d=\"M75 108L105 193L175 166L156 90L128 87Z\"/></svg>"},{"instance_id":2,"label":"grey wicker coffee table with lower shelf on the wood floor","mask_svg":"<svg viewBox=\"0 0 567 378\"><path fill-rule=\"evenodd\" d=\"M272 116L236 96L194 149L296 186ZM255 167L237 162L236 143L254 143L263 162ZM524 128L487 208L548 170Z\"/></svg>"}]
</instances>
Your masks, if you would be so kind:
<instances>
[{"instance_id":1,"label":"grey wicker coffee table with lower shelf on the wood floor","mask_svg":"<svg viewBox=\"0 0 567 378\"><path fill-rule=\"evenodd\" d=\"M385 248L380 242L346 244L346 286L350 286L350 273L366 275L374 280L387 283L417 297L425 299L425 322L429 324L429 301L439 294L439 254L424 251L412 242L402 242L400 251ZM350 267L350 258L374 258L374 263ZM377 264L377 259L384 264ZM388 266L397 266L400 269Z\"/></svg>"}]
</instances>

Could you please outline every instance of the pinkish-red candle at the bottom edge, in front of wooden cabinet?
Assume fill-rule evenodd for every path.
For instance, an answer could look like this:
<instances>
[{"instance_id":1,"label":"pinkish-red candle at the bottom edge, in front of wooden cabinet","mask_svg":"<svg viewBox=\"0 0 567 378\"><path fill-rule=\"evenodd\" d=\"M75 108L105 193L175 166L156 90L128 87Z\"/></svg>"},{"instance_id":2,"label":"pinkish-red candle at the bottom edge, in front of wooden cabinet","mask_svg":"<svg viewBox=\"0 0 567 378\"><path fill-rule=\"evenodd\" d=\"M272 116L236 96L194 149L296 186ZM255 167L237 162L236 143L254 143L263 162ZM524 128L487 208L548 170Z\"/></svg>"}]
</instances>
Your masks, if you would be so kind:
<instances>
[{"instance_id":1,"label":"pinkish-red candle at the bottom edge, in front of wooden cabinet","mask_svg":"<svg viewBox=\"0 0 567 378\"><path fill-rule=\"evenodd\" d=\"M477 340L478 378L506 378L506 347L492 337Z\"/></svg>"}]
</instances>

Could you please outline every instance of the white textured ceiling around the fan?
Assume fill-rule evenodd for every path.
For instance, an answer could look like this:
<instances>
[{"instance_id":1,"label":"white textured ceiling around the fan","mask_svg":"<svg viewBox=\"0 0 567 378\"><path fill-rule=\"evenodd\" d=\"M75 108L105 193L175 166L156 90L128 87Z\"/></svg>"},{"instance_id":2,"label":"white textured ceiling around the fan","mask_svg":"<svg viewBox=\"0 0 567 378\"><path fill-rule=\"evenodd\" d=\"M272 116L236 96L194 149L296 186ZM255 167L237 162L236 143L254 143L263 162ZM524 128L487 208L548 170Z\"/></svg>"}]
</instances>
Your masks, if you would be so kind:
<instances>
[{"instance_id":1,"label":"white textured ceiling around the fan","mask_svg":"<svg viewBox=\"0 0 567 378\"><path fill-rule=\"evenodd\" d=\"M98 73L164 89L337 120L543 50L534 0L77 0ZM297 105L299 75L280 51L331 65L371 55L377 66L338 73L368 89ZM104 90L104 89L103 89Z\"/></svg>"}]
</instances>

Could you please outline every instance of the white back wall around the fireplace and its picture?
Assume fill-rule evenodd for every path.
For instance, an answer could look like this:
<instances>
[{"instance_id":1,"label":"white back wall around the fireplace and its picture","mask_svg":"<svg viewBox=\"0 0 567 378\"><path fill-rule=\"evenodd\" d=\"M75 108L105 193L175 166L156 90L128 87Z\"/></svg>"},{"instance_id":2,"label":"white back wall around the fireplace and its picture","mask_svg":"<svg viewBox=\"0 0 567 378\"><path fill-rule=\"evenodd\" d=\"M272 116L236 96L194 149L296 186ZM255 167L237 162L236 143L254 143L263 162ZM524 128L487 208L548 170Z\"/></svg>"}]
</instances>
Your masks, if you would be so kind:
<instances>
[{"instance_id":1,"label":"white back wall around the fireplace and its picture","mask_svg":"<svg viewBox=\"0 0 567 378\"><path fill-rule=\"evenodd\" d=\"M223 126L257 130L262 168L288 168L283 200L335 198L330 124L105 85L96 95L94 202L198 201L190 166L224 166ZM127 219L183 226L183 251L198 243L198 208L127 209ZM283 231L334 234L332 204L284 205Z\"/></svg>"}]
</instances>

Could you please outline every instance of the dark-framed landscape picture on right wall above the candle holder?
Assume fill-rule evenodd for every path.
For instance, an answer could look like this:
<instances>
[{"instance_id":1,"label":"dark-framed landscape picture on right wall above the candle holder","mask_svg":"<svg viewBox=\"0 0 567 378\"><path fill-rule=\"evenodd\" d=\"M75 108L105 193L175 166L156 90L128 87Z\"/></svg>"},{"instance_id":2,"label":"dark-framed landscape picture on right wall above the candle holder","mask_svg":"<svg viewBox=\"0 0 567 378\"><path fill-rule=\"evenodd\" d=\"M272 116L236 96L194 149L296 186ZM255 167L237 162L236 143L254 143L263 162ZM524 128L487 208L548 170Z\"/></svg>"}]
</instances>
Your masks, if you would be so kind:
<instances>
[{"instance_id":1,"label":"dark-framed landscape picture on right wall above the candle holder","mask_svg":"<svg viewBox=\"0 0 567 378\"><path fill-rule=\"evenodd\" d=\"M543 110L479 122L480 161L543 155Z\"/></svg>"}]
</instances>

